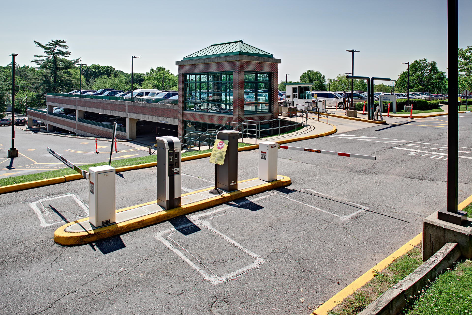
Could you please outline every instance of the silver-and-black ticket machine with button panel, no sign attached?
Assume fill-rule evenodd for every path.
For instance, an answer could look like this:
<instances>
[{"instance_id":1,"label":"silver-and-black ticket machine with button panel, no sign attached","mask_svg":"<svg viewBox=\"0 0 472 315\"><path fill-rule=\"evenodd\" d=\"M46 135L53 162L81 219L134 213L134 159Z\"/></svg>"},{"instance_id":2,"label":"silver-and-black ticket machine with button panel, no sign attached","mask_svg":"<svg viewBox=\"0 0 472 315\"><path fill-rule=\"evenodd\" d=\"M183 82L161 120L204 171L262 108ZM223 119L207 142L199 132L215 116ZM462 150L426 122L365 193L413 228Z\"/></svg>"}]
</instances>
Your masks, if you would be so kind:
<instances>
[{"instance_id":1,"label":"silver-and-black ticket machine with button panel, no sign attached","mask_svg":"<svg viewBox=\"0 0 472 315\"><path fill-rule=\"evenodd\" d=\"M157 204L165 210L180 207L182 181L180 178L181 145L174 136L156 137L157 147Z\"/></svg>"}]
</instances>

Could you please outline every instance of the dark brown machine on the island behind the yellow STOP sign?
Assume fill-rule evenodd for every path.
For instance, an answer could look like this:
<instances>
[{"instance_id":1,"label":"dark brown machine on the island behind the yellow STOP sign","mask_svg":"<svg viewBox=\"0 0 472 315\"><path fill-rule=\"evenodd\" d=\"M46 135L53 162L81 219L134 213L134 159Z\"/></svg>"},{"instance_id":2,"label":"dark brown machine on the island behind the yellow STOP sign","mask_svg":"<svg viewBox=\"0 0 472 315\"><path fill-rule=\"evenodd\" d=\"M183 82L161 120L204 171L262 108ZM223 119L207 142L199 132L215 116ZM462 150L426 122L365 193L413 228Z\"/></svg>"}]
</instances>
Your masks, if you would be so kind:
<instances>
[{"instance_id":1,"label":"dark brown machine on the island behind the yellow STOP sign","mask_svg":"<svg viewBox=\"0 0 472 315\"><path fill-rule=\"evenodd\" d=\"M225 162L216 165L216 188L225 191L237 190L237 130L223 130L216 134L217 140L228 140Z\"/></svg>"}]
</instances>

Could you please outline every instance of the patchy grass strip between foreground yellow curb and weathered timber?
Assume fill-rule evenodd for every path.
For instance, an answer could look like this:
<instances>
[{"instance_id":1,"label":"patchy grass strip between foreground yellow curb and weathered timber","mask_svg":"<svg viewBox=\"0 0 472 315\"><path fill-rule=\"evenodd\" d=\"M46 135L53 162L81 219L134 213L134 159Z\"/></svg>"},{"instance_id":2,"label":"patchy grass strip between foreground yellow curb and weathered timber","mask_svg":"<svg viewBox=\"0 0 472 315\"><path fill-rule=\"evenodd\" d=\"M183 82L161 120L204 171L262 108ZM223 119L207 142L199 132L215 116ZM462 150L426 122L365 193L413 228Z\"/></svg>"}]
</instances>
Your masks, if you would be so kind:
<instances>
[{"instance_id":1,"label":"patchy grass strip between foreground yellow curb and weathered timber","mask_svg":"<svg viewBox=\"0 0 472 315\"><path fill-rule=\"evenodd\" d=\"M335 306L329 314L355 315L371 304L382 293L394 286L398 281L412 273L423 264L421 258L421 243L405 255L396 258L382 271L375 272L374 278L361 288L346 297ZM338 302L337 302L338 303Z\"/></svg>"}]
</instances>

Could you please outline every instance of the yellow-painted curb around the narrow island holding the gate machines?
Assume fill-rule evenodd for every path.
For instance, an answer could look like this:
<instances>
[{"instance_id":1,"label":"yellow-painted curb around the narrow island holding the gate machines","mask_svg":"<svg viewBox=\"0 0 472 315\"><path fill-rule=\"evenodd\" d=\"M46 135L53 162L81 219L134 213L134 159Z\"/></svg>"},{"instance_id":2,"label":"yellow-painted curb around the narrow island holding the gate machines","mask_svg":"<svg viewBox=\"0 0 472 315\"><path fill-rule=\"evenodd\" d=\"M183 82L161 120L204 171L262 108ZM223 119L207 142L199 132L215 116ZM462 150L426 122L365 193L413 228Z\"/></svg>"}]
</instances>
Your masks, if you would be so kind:
<instances>
[{"instance_id":1,"label":"yellow-painted curb around the narrow island holding the gate machines","mask_svg":"<svg viewBox=\"0 0 472 315\"><path fill-rule=\"evenodd\" d=\"M247 180L253 180L253 179L247 179ZM247 181L247 180L244 180L244 181ZM243 182L243 181L238 181L238 183L240 182ZM64 246L84 245L84 244L88 244L102 238L109 238L111 236L123 234L129 231L140 229L140 228L143 228L152 224L156 224L162 221L167 221L169 219L175 218L180 215L185 215L185 214L199 211L202 209L214 207L216 205L224 204L238 198L259 194L267 190L288 186L290 184L291 184L290 178L288 178L287 176L283 176L283 179L280 179L280 180L275 180L269 183L264 183L255 187L249 187L242 190L236 190L228 194L214 196L209 199L194 202L192 204L185 204L175 209L148 214L139 218L131 219L125 222L120 222L118 224L109 225L103 228L98 228L92 231L84 231L84 232L77 232L77 233L69 233L65 231L65 229L69 225L88 220L88 218L84 218L84 219L67 223L61 226L59 229L57 229L54 232L54 241L58 243L59 245L64 245ZM208 190L208 188L205 190ZM151 201L145 204L138 204L132 207L119 209L117 210L117 212L121 212L128 209L134 209L139 206L146 205L146 204L153 204L155 202L156 201Z\"/></svg>"}]
</instances>

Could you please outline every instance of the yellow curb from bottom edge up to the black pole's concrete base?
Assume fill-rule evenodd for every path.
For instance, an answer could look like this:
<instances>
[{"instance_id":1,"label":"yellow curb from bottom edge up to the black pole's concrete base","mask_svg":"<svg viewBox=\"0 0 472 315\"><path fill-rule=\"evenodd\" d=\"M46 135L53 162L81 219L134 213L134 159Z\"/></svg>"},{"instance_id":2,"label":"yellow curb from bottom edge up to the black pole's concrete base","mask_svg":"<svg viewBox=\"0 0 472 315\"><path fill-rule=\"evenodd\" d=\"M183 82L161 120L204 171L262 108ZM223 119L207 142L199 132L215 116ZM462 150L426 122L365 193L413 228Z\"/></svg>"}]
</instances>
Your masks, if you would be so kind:
<instances>
[{"instance_id":1,"label":"yellow curb from bottom edge up to the black pole's concrete base","mask_svg":"<svg viewBox=\"0 0 472 315\"><path fill-rule=\"evenodd\" d=\"M316 310L313 311L312 315L326 315L328 312L334 307L337 306L343 299L347 296L351 295L355 290L362 287L364 284L369 282L373 277L373 271L381 271L385 269L388 264L392 263L396 258L404 255L409 250L413 249L414 245L418 245L421 242L421 238L423 233L418 234L415 236L411 241L406 243L404 246L398 248L392 255L389 255L387 258L379 262L376 266L373 266L367 272L365 272L362 276L354 280L351 284L349 284L346 288L339 291L334 297L330 298L326 301L323 305L318 307Z\"/></svg>"}]
</instances>

